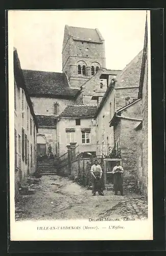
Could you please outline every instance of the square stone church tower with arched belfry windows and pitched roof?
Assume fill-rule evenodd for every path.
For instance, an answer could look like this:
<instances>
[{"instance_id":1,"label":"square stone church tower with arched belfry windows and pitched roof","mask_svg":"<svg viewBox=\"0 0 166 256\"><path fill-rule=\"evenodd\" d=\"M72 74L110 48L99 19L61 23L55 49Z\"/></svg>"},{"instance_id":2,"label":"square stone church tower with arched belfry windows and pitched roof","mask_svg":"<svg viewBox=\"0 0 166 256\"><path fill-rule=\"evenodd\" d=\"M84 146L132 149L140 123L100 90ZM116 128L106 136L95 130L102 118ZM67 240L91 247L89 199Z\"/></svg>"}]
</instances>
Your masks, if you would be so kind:
<instances>
[{"instance_id":1,"label":"square stone church tower with arched belfry windows and pitched roof","mask_svg":"<svg viewBox=\"0 0 166 256\"><path fill-rule=\"evenodd\" d=\"M105 46L99 30L65 25L62 72L70 87L80 88L100 68L105 68Z\"/></svg>"}]
</instances>

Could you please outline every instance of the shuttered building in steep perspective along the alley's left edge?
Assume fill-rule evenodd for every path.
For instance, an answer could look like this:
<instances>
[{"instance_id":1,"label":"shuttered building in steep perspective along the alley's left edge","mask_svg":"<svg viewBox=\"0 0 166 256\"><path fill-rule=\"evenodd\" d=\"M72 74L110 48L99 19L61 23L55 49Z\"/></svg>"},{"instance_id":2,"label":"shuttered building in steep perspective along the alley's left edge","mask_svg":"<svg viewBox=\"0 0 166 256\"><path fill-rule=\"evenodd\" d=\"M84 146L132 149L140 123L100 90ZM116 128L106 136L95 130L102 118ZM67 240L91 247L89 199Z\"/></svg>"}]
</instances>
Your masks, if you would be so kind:
<instances>
[{"instance_id":1,"label":"shuttered building in steep perspective along the alley's left edge","mask_svg":"<svg viewBox=\"0 0 166 256\"><path fill-rule=\"evenodd\" d=\"M14 48L14 148L15 194L18 184L36 170L38 124Z\"/></svg>"}]
</instances>

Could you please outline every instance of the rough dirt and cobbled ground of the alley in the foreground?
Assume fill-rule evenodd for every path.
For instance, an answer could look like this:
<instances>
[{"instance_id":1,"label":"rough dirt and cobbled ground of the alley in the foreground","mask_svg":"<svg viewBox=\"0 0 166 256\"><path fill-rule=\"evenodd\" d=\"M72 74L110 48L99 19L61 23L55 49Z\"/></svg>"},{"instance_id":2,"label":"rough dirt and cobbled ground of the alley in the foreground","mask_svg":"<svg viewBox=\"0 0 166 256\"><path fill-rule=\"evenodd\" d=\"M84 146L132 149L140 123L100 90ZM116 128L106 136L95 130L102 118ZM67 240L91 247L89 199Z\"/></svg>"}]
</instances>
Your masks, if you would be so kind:
<instances>
[{"instance_id":1,"label":"rough dirt and cobbled ground of the alley in the foreground","mask_svg":"<svg viewBox=\"0 0 166 256\"><path fill-rule=\"evenodd\" d=\"M136 194L114 196L104 190L104 196L92 196L92 191L68 178L42 176L32 185L35 194L22 196L15 205L15 219L56 220L87 218L147 218L147 203Z\"/></svg>"}]
</instances>

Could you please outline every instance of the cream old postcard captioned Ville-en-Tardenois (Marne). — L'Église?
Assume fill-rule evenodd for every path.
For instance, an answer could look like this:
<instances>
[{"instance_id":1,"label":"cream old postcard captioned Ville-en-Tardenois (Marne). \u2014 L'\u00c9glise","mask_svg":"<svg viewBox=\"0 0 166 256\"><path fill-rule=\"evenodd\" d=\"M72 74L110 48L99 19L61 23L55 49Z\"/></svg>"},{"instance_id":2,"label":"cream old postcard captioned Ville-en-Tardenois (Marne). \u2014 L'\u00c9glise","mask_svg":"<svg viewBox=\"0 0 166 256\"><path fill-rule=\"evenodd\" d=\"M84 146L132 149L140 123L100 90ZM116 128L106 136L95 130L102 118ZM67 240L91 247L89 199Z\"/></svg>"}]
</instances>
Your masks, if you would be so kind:
<instances>
[{"instance_id":1,"label":"cream old postcard captioned Ville-en-Tardenois (Marne). \u2014 L'\u00c9glise","mask_svg":"<svg viewBox=\"0 0 166 256\"><path fill-rule=\"evenodd\" d=\"M11 241L153 240L149 10L9 10Z\"/></svg>"}]
</instances>

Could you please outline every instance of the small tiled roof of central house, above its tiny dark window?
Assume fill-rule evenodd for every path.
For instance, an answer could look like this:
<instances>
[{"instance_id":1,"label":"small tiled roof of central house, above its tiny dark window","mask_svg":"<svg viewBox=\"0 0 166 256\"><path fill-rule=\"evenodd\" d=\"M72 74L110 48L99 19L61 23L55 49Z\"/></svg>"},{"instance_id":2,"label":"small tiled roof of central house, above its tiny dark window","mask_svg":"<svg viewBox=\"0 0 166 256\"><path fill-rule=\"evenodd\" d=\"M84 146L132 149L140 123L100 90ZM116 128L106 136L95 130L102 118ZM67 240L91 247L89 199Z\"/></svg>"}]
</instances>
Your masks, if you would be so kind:
<instances>
[{"instance_id":1,"label":"small tiled roof of central house, above its tiny dark window","mask_svg":"<svg viewBox=\"0 0 166 256\"><path fill-rule=\"evenodd\" d=\"M61 113L60 117L92 117L96 111L97 106L69 105Z\"/></svg>"}]
</instances>

